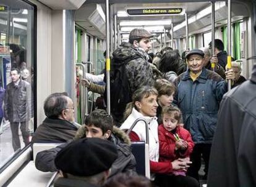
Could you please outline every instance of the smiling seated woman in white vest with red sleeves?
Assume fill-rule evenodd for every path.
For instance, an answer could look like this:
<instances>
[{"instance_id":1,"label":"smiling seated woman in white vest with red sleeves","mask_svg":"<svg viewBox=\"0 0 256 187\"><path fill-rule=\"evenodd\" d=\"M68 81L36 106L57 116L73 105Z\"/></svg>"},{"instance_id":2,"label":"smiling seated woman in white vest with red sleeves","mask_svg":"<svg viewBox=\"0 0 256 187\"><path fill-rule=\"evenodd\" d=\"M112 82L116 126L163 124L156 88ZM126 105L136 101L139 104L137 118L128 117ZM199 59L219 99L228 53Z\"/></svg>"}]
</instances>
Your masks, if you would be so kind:
<instances>
[{"instance_id":1,"label":"smiling seated woman in white vest with red sleeves","mask_svg":"<svg viewBox=\"0 0 256 187\"><path fill-rule=\"evenodd\" d=\"M158 140L158 122L156 121L156 109L158 92L153 87L142 87L134 92L132 102L126 107L124 115L126 121L121 125L121 129L130 129L132 124L139 117L143 117L148 122L148 138L149 138L149 157L150 157L150 172L158 186L168 186L176 184L176 186L198 186L194 178L186 177L182 184L180 181L174 181L171 176L173 170L187 170L191 163L185 159L177 159L173 162L158 162L159 158L159 140ZM146 132L145 124L139 121L132 132L129 134L132 141L145 141ZM157 175L155 175L157 173Z\"/></svg>"}]
</instances>

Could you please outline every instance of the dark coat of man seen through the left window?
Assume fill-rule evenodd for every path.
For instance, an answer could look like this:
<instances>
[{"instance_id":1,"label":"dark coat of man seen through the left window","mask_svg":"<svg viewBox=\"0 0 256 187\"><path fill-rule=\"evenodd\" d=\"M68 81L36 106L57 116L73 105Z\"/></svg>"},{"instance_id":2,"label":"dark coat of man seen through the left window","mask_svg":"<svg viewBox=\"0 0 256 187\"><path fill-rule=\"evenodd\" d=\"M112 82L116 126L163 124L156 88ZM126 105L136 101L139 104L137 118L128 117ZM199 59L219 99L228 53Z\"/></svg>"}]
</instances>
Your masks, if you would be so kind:
<instances>
[{"instance_id":1,"label":"dark coat of man seen through the left window","mask_svg":"<svg viewBox=\"0 0 256 187\"><path fill-rule=\"evenodd\" d=\"M31 86L20 80L18 86L11 82L4 97L4 117L10 122L25 122L31 118Z\"/></svg>"}]
</instances>

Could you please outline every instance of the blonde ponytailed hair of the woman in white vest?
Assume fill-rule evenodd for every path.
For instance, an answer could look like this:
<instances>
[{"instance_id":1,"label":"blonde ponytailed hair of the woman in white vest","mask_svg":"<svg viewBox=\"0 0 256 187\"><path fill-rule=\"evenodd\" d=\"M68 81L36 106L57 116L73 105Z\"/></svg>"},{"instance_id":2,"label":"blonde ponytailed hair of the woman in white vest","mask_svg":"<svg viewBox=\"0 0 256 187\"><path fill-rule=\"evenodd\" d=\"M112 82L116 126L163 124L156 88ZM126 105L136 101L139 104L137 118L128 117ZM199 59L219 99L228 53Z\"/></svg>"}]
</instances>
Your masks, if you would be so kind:
<instances>
[{"instance_id":1,"label":"blonde ponytailed hair of the woman in white vest","mask_svg":"<svg viewBox=\"0 0 256 187\"><path fill-rule=\"evenodd\" d=\"M134 94L132 95L132 102L126 105L124 119L127 119L127 117L132 113L132 108L137 109L135 106L135 101L142 101L143 98L148 98L150 95L158 95L158 92L154 87L143 86L140 89L135 90Z\"/></svg>"}]
</instances>

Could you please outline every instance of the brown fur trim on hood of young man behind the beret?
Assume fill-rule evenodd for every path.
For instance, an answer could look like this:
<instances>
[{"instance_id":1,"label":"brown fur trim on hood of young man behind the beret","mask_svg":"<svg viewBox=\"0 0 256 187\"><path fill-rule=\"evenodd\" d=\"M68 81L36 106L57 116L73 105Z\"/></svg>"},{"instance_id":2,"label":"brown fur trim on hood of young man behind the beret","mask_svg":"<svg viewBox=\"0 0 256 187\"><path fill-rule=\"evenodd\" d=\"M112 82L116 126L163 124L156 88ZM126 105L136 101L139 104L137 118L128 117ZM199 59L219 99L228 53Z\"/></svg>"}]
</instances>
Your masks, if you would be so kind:
<instances>
[{"instance_id":1,"label":"brown fur trim on hood of young man behind the beret","mask_svg":"<svg viewBox=\"0 0 256 187\"><path fill-rule=\"evenodd\" d=\"M129 136L124 132L124 130L119 129L118 127L114 126L113 127L113 132L112 135L114 135L115 138L118 138L119 140L121 140L123 143L126 143L128 145L130 145L130 138ZM86 134L85 134L85 125L82 125L77 132L75 133L75 137L74 140L80 139L80 138L85 138ZM114 139L111 136L111 139ZM116 143L116 142L115 142Z\"/></svg>"}]
</instances>

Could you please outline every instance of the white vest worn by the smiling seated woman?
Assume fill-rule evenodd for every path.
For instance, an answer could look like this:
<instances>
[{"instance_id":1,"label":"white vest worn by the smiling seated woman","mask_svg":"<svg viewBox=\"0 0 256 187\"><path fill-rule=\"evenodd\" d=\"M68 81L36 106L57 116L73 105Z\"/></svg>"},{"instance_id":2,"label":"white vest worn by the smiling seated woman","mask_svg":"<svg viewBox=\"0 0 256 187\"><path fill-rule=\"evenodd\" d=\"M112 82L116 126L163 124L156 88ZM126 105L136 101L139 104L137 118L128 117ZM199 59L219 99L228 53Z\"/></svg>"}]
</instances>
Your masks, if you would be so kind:
<instances>
[{"instance_id":1,"label":"white vest worn by the smiling seated woman","mask_svg":"<svg viewBox=\"0 0 256 187\"><path fill-rule=\"evenodd\" d=\"M127 117L126 121L121 125L121 129L130 129L132 124L139 117L143 117L148 122L148 138L149 138L149 154L150 161L158 162L159 159L159 140L158 140L158 122L156 121L157 117L148 117L143 116L142 113L139 113L137 109L132 108L132 113ZM145 123L139 121L134 129L135 132L141 141L146 141L146 130Z\"/></svg>"}]
</instances>

